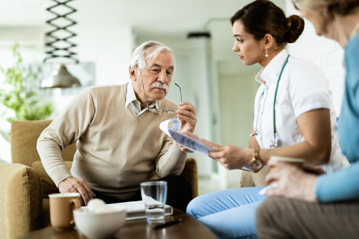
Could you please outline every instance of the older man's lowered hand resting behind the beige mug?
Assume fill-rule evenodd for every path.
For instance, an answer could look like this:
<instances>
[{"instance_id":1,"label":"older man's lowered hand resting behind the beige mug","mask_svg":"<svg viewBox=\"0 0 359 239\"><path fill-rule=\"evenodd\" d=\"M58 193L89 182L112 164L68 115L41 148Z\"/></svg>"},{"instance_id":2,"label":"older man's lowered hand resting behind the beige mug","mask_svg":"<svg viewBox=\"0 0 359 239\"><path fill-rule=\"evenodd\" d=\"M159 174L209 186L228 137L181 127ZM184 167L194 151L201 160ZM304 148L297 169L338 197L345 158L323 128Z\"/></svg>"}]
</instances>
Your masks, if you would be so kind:
<instances>
[{"instance_id":1,"label":"older man's lowered hand resting behind the beige mug","mask_svg":"<svg viewBox=\"0 0 359 239\"><path fill-rule=\"evenodd\" d=\"M90 186L82 178L69 177L60 182L59 190L61 193L78 192L80 193L83 203L87 206L88 201L93 199L96 195L92 192Z\"/></svg>"}]
</instances>

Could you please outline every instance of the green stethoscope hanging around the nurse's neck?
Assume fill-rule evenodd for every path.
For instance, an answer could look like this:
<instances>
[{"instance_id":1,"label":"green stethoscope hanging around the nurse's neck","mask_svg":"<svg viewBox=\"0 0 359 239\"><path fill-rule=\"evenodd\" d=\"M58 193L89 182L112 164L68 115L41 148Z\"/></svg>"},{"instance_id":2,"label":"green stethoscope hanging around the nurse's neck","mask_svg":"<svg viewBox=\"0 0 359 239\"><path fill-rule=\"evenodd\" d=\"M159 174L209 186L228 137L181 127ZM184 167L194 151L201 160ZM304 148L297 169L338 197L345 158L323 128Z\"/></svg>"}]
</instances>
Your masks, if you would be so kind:
<instances>
[{"instance_id":1,"label":"green stethoscope hanging around the nurse's neck","mask_svg":"<svg viewBox=\"0 0 359 239\"><path fill-rule=\"evenodd\" d=\"M274 135L274 138L270 141L270 145L269 145L270 148L276 148L276 147L278 147L279 139L278 139L278 135L277 135L277 129L276 129L276 127L275 127L275 102L276 102L276 99L277 99L277 92L278 92L279 81L280 81L280 78L281 78L281 76L282 76L284 67L285 67L285 65L288 63L288 58L289 58L289 56L290 56L290 55L288 54L287 58L285 59L285 62L284 62L284 64L283 64L283 66L282 66L282 70L280 71L280 74L279 74L279 77L278 77L277 86L276 86L276 88L275 88L274 101L273 101L273 135ZM258 100L258 113L257 113L257 120L256 120L256 127L255 127L255 130L254 130L254 134L250 134L250 137L252 137L252 136L254 136L254 135L257 135L257 134L259 133L259 129L258 129L258 119L259 119L259 113L260 113L260 109L261 109L261 104L262 104L263 97L264 97L264 89L263 89L262 94L259 96L259 100Z\"/></svg>"}]
</instances>

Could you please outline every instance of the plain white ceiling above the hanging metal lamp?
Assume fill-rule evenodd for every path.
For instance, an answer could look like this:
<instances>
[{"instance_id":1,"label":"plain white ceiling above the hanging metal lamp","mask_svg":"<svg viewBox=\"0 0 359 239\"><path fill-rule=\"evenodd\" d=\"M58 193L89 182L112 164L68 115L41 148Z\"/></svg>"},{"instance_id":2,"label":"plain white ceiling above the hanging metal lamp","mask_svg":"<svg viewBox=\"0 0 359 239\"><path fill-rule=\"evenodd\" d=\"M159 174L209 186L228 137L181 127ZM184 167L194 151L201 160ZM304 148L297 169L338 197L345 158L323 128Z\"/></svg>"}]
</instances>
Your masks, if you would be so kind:
<instances>
[{"instance_id":1,"label":"plain white ceiling above the hanging metal lamp","mask_svg":"<svg viewBox=\"0 0 359 239\"><path fill-rule=\"evenodd\" d=\"M65 0L59 0L65 1ZM130 25L137 32L183 33L203 30L213 19L228 19L251 0L75 0L69 15L79 26ZM274 0L284 7L285 0ZM47 27L52 0L0 0L0 28ZM60 11L61 9L59 9Z\"/></svg>"}]
</instances>

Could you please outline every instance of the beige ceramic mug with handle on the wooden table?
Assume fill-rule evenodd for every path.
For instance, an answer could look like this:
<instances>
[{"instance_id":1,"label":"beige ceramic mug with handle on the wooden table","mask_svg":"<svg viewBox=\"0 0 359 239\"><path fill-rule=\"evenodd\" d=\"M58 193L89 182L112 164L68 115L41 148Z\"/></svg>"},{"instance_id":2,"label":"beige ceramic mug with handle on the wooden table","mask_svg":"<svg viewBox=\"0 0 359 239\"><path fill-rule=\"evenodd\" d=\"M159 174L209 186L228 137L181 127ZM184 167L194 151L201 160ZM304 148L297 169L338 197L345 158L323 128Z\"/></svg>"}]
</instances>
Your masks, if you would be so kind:
<instances>
[{"instance_id":1,"label":"beige ceramic mug with handle on the wooden table","mask_svg":"<svg viewBox=\"0 0 359 239\"><path fill-rule=\"evenodd\" d=\"M73 210L81 207L80 193L53 193L50 198L50 222L57 230L74 228Z\"/></svg>"}]
</instances>

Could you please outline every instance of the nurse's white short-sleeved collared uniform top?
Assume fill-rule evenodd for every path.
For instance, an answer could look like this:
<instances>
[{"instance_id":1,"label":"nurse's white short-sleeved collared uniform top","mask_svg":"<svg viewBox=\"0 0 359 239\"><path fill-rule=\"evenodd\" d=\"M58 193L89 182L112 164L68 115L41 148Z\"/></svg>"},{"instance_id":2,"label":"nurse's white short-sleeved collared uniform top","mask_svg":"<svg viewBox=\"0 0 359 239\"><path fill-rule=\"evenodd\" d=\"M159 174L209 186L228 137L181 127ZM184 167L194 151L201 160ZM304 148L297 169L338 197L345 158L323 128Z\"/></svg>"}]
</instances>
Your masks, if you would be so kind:
<instances>
[{"instance_id":1,"label":"nurse's white short-sleeved collared uniform top","mask_svg":"<svg viewBox=\"0 0 359 239\"><path fill-rule=\"evenodd\" d=\"M283 49L257 74L261 83L255 99L253 128L256 129L258 101L261 100L256 140L261 148L270 148L274 140L273 104L280 71L288 53ZM336 114L332 104L332 93L324 73L313 63L290 56L279 81L275 102L275 126L279 139L278 147L304 141L296 119L314 109L330 109L332 148L331 158L323 169L327 172L349 165L339 145L336 132Z\"/></svg>"}]
</instances>

